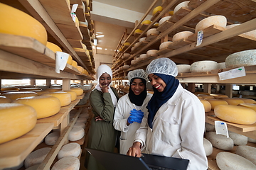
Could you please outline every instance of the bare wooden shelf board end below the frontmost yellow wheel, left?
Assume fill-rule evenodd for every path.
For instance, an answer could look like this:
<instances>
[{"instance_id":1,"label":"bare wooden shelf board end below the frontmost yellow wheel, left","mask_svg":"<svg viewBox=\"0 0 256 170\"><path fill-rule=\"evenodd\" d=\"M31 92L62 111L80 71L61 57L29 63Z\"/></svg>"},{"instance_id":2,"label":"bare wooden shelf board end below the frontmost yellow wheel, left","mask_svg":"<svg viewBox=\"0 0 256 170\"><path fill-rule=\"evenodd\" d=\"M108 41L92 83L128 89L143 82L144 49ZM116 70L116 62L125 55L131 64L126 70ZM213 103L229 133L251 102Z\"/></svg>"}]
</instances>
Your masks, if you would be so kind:
<instances>
[{"instance_id":1,"label":"bare wooden shelf board end below the frontmost yellow wheel, left","mask_svg":"<svg viewBox=\"0 0 256 170\"><path fill-rule=\"evenodd\" d=\"M53 129L53 123L37 123L25 135L0 145L0 169L18 166Z\"/></svg>"}]
</instances>

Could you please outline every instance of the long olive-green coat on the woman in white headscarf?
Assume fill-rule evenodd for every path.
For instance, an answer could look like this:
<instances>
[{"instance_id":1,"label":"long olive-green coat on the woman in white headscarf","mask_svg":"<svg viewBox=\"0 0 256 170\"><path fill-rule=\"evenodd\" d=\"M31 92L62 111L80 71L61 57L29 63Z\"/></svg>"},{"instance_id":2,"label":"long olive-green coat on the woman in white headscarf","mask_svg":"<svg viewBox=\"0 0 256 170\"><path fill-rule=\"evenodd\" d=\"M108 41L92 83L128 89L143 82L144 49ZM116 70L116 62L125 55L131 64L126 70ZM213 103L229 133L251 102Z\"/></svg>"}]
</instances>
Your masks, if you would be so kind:
<instances>
[{"instance_id":1,"label":"long olive-green coat on the woman in white headscarf","mask_svg":"<svg viewBox=\"0 0 256 170\"><path fill-rule=\"evenodd\" d=\"M117 91L112 88L112 91L119 99ZM110 93L102 93L94 89L90 94L90 104L92 106L92 113L97 117L100 115L105 121L92 118L89 129L88 145L92 149L105 150L107 152L114 152L114 145L117 141L117 130L114 129L114 106L112 103ZM87 154L89 156L89 154ZM99 166L95 159L91 156L87 157L87 170L100 170L104 169ZM86 164L85 163L85 164Z\"/></svg>"}]
</instances>

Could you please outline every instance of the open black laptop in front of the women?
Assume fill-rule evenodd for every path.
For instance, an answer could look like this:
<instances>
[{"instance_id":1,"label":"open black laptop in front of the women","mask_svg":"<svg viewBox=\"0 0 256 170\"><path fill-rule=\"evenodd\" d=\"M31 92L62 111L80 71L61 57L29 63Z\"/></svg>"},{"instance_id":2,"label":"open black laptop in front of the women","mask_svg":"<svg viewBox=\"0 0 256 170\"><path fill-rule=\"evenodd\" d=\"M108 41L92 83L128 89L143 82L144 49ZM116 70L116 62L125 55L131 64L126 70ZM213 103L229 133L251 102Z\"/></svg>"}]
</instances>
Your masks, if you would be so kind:
<instances>
[{"instance_id":1,"label":"open black laptop in front of the women","mask_svg":"<svg viewBox=\"0 0 256 170\"><path fill-rule=\"evenodd\" d=\"M186 170L188 159L143 154L143 157L131 157L125 154L105 152L85 148L106 170Z\"/></svg>"}]
</instances>

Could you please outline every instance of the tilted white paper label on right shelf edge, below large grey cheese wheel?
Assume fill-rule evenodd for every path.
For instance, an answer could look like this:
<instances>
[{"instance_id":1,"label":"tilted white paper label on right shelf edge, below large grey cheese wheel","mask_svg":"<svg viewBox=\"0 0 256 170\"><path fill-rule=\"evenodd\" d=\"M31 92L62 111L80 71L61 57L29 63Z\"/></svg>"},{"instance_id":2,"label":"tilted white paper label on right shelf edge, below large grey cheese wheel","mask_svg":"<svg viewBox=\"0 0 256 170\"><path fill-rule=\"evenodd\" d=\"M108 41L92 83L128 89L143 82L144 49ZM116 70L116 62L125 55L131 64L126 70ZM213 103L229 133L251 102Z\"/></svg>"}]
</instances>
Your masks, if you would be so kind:
<instances>
[{"instance_id":1,"label":"tilted white paper label on right shelf edge, below large grey cheese wheel","mask_svg":"<svg viewBox=\"0 0 256 170\"><path fill-rule=\"evenodd\" d=\"M245 77L245 67L239 67L236 69L230 69L227 72L220 72L218 76L220 80L234 79L237 77Z\"/></svg>"}]
</instances>

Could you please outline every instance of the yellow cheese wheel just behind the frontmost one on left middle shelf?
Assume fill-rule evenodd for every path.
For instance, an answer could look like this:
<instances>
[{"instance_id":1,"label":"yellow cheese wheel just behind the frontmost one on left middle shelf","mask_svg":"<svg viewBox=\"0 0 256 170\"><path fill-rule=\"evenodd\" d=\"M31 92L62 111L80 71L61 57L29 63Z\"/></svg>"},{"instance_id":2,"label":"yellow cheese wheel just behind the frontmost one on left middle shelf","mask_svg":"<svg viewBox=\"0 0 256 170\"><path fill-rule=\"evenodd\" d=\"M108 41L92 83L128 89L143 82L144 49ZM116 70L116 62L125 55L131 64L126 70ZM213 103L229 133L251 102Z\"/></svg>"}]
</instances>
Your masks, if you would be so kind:
<instances>
[{"instance_id":1,"label":"yellow cheese wheel just behind the frontmost one on left middle shelf","mask_svg":"<svg viewBox=\"0 0 256 170\"><path fill-rule=\"evenodd\" d=\"M36 110L37 118L47 118L60 111L60 100L53 96L33 96L18 98L12 103L20 103L31 106Z\"/></svg>"}]
</instances>

